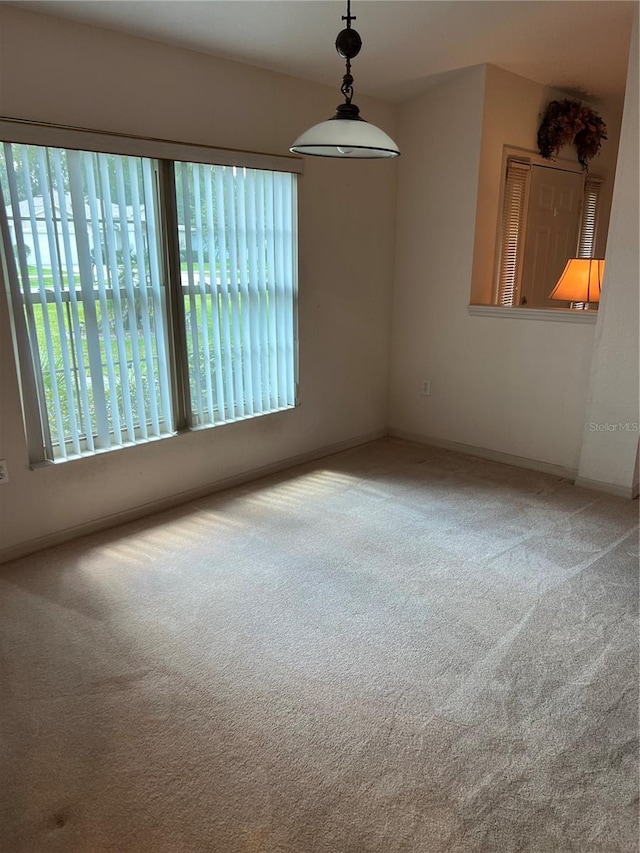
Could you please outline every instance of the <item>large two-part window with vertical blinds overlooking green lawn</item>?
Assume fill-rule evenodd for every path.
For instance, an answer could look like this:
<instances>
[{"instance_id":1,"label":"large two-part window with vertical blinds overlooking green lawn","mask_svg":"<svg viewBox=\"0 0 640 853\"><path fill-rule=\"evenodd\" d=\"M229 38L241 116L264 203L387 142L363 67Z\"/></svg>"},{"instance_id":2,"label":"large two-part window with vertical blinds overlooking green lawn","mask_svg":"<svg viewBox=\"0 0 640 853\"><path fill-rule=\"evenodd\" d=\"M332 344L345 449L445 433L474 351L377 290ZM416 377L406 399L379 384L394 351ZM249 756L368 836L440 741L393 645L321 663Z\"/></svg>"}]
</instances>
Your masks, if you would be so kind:
<instances>
[{"instance_id":1,"label":"large two-part window with vertical blinds overlooking green lawn","mask_svg":"<svg viewBox=\"0 0 640 853\"><path fill-rule=\"evenodd\" d=\"M295 405L296 176L5 142L32 462Z\"/></svg>"}]
</instances>

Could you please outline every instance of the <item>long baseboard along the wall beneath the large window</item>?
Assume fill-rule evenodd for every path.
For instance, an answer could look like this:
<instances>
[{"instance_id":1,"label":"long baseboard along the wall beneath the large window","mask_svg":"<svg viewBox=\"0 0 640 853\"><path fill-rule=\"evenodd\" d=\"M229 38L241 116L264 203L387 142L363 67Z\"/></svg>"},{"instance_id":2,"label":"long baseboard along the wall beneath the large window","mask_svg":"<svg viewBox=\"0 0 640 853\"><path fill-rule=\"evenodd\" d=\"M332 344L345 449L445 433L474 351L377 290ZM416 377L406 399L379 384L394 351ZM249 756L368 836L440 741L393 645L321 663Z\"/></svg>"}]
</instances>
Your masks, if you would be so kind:
<instances>
[{"instance_id":1,"label":"long baseboard along the wall beneath the large window","mask_svg":"<svg viewBox=\"0 0 640 853\"><path fill-rule=\"evenodd\" d=\"M176 506L189 503L189 501L197 500L198 498L203 498L207 495L215 494L216 492L222 492L225 489L242 486L245 483L260 480L263 477L270 476L271 474L286 471L288 468L295 468L297 465L304 465L306 462L313 462L316 459L322 459L325 456L333 456L335 453L341 453L342 451L350 450L353 447L369 444L370 442L377 441L387 435L388 431L386 428L374 430L373 432L365 433L354 438L348 438L344 441L336 442L335 444L327 444L323 447L318 447L315 450L310 450L297 456L289 456L285 459L280 459L277 462L272 462L269 465L263 465L260 468L252 468L250 471L244 471L241 474L235 474L232 477L225 477L222 480L208 483L206 486L199 486L196 489L188 489L184 492L178 492L175 495L169 495L166 498L160 498L157 501L141 504L140 506L133 507L132 509L103 516L102 518L94 519L93 521L87 521L83 524L75 525L74 527L67 527L64 530L59 530L56 533L50 533L46 536L40 536L37 539L31 539L28 542L10 545L8 548L0 549L0 563L6 563L9 560L17 560L20 557L26 557L36 551L43 551L45 548L51 548L54 545L61 545L64 542L79 539L81 536L88 536L91 533L99 533L102 530L118 527L121 524L138 521L141 518L154 515L157 512L173 509Z\"/></svg>"}]
</instances>

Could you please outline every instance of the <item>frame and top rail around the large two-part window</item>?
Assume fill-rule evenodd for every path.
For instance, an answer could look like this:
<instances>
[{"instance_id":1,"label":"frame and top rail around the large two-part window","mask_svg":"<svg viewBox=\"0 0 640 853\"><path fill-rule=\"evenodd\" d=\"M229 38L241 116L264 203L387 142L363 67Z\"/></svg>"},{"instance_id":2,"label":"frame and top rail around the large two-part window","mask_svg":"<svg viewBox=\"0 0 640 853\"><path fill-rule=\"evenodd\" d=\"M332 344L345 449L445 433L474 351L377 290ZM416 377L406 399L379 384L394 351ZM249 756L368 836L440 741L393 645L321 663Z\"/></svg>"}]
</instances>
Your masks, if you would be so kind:
<instances>
[{"instance_id":1,"label":"frame and top rail around the large two-part window","mask_svg":"<svg viewBox=\"0 0 640 853\"><path fill-rule=\"evenodd\" d=\"M185 326L184 286L181 279L180 248L178 237L178 215L176 203L176 185L174 164L180 161L202 163L213 166L235 166L238 168L259 169L271 172L286 172L292 175L303 173L302 159L289 155L262 154L249 151L215 148L185 142L164 139L127 136L117 133L95 131L88 128L67 127L55 124L22 121L0 117L0 140L13 144L35 145L40 147L63 148L90 151L105 154L132 156L154 160L157 165L156 195L158 201L158 225L162 276L165 281L166 300L166 345L168 358L168 381L170 384L173 431L161 436L136 439L109 448L86 450L80 455L56 458L53 453L49 434L47 412L43 411L40 356L32 346L27 328L27 318L23 307L23 297L19 283L16 258L13 252L0 251L2 274L6 286L3 288L8 301L9 318L14 340L16 372L18 376L25 437L31 467L42 464L58 464L79 458L87 458L112 450L137 446L149 441L171 437L191 430L209 429L219 423L205 423L194 426L191 423L191 403L189 393L189 365L187 360L187 330ZM6 200L5 200L6 202ZM299 205L294 214L293 241L293 375L294 403L298 405L298 307L297 285L298 269L298 217ZM9 226L5 211L0 214L0 239L5 246L10 245ZM19 306L19 307L18 307ZM16 310L17 309L17 310ZM291 406L286 406L286 409ZM235 417L224 423L235 423L247 418L263 417L282 409L271 409L251 415ZM92 424L95 426L95 424Z\"/></svg>"}]
</instances>

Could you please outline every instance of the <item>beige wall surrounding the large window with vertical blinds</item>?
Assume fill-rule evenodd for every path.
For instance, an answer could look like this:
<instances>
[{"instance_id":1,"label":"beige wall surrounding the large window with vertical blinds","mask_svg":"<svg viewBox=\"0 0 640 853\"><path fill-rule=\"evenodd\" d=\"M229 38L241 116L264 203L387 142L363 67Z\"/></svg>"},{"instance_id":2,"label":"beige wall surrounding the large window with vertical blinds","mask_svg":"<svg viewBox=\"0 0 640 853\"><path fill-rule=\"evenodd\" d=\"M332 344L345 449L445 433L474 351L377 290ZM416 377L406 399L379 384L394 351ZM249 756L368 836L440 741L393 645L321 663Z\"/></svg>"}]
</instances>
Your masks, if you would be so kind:
<instances>
[{"instance_id":1,"label":"beige wall surrounding the large window with vertical blinds","mask_svg":"<svg viewBox=\"0 0 640 853\"><path fill-rule=\"evenodd\" d=\"M337 89L4 4L0 63L5 116L276 154L339 101ZM395 133L392 106L359 104ZM11 478L0 550L384 430L395 169L305 162L295 411L30 471L0 300L0 458Z\"/></svg>"}]
</instances>

